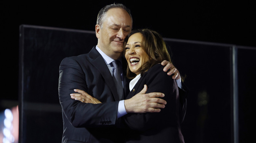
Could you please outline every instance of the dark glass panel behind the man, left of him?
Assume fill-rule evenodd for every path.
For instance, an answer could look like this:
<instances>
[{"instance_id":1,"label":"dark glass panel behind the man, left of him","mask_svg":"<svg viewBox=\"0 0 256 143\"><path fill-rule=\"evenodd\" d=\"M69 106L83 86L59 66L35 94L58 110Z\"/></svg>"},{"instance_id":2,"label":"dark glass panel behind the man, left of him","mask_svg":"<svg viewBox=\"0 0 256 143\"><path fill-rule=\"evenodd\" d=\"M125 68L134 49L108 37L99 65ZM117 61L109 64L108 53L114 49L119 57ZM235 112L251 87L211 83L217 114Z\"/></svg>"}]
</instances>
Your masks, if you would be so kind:
<instances>
[{"instance_id":1,"label":"dark glass panel behind the man, left of him","mask_svg":"<svg viewBox=\"0 0 256 143\"><path fill-rule=\"evenodd\" d=\"M61 142L60 62L88 53L95 43L92 31L20 26L20 143Z\"/></svg>"}]
</instances>

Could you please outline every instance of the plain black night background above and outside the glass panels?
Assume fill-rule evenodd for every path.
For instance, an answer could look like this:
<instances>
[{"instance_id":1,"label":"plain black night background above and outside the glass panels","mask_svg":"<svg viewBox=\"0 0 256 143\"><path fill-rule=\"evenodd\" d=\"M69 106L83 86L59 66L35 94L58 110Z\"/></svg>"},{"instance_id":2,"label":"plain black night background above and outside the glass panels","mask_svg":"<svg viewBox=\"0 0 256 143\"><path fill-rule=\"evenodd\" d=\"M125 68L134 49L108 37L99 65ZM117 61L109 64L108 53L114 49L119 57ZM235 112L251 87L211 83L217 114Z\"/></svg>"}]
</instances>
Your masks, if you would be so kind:
<instances>
[{"instance_id":1,"label":"plain black night background above and outside the glass panels","mask_svg":"<svg viewBox=\"0 0 256 143\"><path fill-rule=\"evenodd\" d=\"M256 46L253 1L2 1L2 90L9 94L1 99L18 100L19 25L94 31L100 8L114 2L131 9L134 28L151 28L166 38Z\"/></svg>"}]
</instances>

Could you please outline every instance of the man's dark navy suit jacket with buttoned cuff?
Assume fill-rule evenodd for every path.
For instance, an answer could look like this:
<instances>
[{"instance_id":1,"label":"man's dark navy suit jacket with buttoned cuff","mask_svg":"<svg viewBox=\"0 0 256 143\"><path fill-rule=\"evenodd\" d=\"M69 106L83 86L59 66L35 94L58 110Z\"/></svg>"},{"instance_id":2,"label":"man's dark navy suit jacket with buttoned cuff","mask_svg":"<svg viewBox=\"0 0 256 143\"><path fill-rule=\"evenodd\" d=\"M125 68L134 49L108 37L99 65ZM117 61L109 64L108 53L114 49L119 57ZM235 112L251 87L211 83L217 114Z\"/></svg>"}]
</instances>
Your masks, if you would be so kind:
<instances>
[{"instance_id":1,"label":"man's dark navy suit jacket with buttoned cuff","mask_svg":"<svg viewBox=\"0 0 256 143\"><path fill-rule=\"evenodd\" d=\"M62 143L123 142L122 130L115 126L119 125L119 98L112 75L108 71L103 57L95 47L88 54L68 57L61 62L59 100L63 117ZM125 92L129 92L128 84L129 81L125 78ZM71 99L70 94L75 93L74 89L84 90L102 104L82 103Z\"/></svg>"}]
</instances>

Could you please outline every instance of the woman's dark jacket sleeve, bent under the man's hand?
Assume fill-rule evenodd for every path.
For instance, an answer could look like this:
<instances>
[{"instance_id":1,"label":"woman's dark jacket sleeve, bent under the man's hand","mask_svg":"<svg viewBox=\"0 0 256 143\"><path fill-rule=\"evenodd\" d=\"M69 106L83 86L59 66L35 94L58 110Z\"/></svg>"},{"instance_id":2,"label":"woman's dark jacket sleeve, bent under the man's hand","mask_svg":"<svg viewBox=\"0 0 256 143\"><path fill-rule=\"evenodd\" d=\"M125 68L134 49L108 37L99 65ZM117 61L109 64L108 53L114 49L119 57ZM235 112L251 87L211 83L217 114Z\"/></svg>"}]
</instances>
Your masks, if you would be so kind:
<instances>
[{"instance_id":1,"label":"woman's dark jacket sleeve, bent under the man's hand","mask_svg":"<svg viewBox=\"0 0 256 143\"><path fill-rule=\"evenodd\" d=\"M125 124L133 130L145 131L164 124L176 124L178 114L179 91L175 80L164 72L160 65L152 67L146 75L146 93L161 92L167 104L159 113L127 114L124 116Z\"/></svg>"}]
</instances>

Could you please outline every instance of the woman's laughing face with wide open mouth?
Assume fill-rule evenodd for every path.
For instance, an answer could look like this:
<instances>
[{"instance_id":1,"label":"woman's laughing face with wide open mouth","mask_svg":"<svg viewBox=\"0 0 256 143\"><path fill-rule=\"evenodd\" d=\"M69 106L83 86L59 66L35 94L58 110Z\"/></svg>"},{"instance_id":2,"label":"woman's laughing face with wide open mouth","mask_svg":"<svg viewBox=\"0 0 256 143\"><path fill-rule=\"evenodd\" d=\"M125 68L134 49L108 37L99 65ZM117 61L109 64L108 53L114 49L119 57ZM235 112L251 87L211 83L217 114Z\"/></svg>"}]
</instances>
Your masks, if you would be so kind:
<instances>
[{"instance_id":1,"label":"woman's laughing face with wide open mouth","mask_svg":"<svg viewBox=\"0 0 256 143\"><path fill-rule=\"evenodd\" d=\"M140 74L140 69L149 60L149 56L142 48L143 37L140 33L135 33L125 45L125 58L130 70L135 74Z\"/></svg>"}]
</instances>

